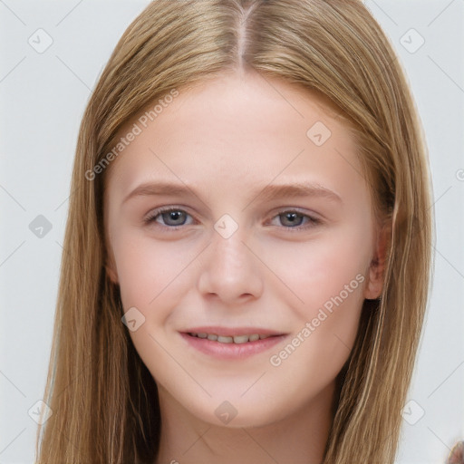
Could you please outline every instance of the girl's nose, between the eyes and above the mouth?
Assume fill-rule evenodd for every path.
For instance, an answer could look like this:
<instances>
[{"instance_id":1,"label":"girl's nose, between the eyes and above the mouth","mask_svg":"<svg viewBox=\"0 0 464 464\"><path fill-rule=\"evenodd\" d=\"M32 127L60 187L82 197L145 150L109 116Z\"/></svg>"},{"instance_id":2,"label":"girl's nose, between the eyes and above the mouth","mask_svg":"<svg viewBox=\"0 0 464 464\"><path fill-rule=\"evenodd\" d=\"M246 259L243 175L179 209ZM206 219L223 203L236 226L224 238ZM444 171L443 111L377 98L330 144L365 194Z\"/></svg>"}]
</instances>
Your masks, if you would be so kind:
<instances>
[{"instance_id":1,"label":"girl's nose, between the eyes and above the mouth","mask_svg":"<svg viewBox=\"0 0 464 464\"><path fill-rule=\"evenodd\" d=\"M258 298L263 292L263 269L247 245L247 231L238 227L226 238L215 230L211 240L198 278L201 295L229 305Z\"/></svg>"}]
</instances>

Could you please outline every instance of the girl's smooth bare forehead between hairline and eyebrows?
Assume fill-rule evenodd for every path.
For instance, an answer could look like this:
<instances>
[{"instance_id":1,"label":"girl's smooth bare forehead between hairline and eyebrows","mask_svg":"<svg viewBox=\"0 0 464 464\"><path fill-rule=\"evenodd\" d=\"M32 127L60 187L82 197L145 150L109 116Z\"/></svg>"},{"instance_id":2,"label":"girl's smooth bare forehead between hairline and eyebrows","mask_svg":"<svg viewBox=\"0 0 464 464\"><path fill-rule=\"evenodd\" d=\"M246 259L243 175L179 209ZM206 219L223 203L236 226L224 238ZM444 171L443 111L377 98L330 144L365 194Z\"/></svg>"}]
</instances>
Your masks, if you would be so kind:
<instances>
[{"instance_id":1,"label":"girl's smooth bare forehead between hairline and eyebrows","mask_svg":"<svg viewBox=\"0 0 464 464\"><path fill-rule=\"evenodd\" d=\"M327 98L299 85L258 73L223 74L179 89L157 111L155 105L128 121L113 141L139 132L111 163L121 190L155 173L224 187L304 172L329 183L331 174L346 184L360 180L344 120Z\"/></svg>"}]
</instances>

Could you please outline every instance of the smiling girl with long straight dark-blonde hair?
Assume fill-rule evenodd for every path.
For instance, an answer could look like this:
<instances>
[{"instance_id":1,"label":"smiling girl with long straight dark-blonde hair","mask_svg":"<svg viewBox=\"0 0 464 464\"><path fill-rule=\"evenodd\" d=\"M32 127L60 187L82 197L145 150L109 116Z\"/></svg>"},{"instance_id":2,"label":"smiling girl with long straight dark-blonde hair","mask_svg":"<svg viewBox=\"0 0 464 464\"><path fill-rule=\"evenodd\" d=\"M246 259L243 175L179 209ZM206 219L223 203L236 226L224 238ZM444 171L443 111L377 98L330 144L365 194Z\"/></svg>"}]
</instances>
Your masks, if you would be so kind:
<instances>
[{"instance_id":1,"label":"smiling girl with long straight dark-blonde hair","mask_svg":"<svg viewBox=\"0 0 464 464\"><path fill-rule=\"evenodd\" d=\"M430 191L362 2L152 2L82 119L37 462L392 464Z\"/></svg>"}]
</instances>

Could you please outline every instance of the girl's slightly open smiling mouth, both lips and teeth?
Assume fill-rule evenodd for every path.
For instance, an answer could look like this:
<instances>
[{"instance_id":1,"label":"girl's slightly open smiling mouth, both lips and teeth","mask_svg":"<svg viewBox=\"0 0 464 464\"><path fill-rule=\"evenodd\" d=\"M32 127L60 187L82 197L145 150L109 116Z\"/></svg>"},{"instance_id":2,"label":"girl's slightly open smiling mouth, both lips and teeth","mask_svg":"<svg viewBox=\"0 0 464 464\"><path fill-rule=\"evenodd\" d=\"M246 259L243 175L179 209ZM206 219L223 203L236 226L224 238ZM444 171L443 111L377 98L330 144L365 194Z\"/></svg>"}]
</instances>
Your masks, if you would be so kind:
<instances>
[{"instance_id":1,"label":"girl's slightly open smiling mouth, both lips and teeth","mask_svg":"<svg viewBox=\"0 0 464 464\"><path fill-rule=\"evenodd\" d=\"M237 329L200 327L181 332L180 335L190 347L201 353L219 359L243 359L265 352L284 340L287 333L256 327Z\"/></svg>"}]
</instances>

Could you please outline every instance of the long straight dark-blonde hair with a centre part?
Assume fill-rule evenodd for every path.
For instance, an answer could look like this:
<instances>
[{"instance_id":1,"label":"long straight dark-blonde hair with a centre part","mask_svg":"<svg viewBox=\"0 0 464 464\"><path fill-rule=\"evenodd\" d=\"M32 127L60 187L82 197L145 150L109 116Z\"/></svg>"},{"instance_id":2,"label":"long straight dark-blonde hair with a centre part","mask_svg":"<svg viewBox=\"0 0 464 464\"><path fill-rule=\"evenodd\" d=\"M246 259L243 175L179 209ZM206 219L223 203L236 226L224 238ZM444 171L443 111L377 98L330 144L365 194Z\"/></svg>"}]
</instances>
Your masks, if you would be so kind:
<instances>
[{"instance_id":1,"label":"long straight dark-blonde hair with a centre part","mask_svg":"<svg viewBox=\"0 0 464 464\"><path fill-rule=\"evenodd\" d=\"M431 275L428 156L391 43L359 0L156 0L102 72L79 132L36 462L152 463L157 385L105 271L106 170L87 172L149 102L237 68L317 92L353 131L378 218L391 223L382 296L366 300L339 375L324 464L393 463ZM93 171L94 172L94 171Z\"/></svg>"}]
</instances>

